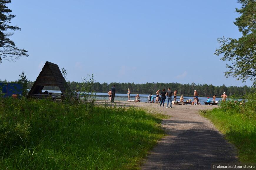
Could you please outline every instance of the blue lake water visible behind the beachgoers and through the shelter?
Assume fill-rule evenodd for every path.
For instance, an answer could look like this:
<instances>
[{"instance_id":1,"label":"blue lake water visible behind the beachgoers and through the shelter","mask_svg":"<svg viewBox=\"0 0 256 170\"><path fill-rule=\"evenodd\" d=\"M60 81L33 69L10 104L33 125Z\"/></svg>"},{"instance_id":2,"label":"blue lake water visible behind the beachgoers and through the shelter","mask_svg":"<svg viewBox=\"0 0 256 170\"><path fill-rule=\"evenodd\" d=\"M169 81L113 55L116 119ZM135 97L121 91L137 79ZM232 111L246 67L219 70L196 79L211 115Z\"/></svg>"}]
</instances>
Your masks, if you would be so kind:
<instances>
[{"instance_id":1,"label":"blue lake water visible behind the beachgoers and through the shelter","mask_svg":"<svg viewBox=\"0 0 256 170\"><path fill-rule=\"evenodd\" d=\"M48 91L48 93L61 93L61 91L56 91L56 90L47 90L47 91ZM42 92L44 92L44 90L42 90ZM130 95L130 99L131 100L135 100L135 96L136 96L136 94L131 94ZM140 96L139 100L141 100L142 102L146 102L147 101L147 97L149 96L149 94L139 94L139 96ZM155 102L156 95L153 95L153 97L154 97L154 102ZM212 101L212 96L209 96L209 97L210 97L210 100ZM106 100L106 101L108 101L109 100L109 95L108 95L108 93L96 93L96 97L95 98L96 98L96 100ZM180 98L180 96L177 96L176 100L179 101L179 98ZM183 98L184 98L184 101L187 101L189 99L192 99L191 102L194 101L193 97L183 96ZM204 102L207 101L207 97L198 97L198 99L199 99L199 102L202 105L204 105L205 104ZM127 94L116 93L116 96L115 96L114 100L117 100L117 101L127 101L128 100L128 96L127 96ZM174 100L173 96L172 96L172 100ZM221 98L217 98L216 97L216 101L221 101ZM167 103L167 98L165 100L165 103Z\"/></svg>"}]
</instances>

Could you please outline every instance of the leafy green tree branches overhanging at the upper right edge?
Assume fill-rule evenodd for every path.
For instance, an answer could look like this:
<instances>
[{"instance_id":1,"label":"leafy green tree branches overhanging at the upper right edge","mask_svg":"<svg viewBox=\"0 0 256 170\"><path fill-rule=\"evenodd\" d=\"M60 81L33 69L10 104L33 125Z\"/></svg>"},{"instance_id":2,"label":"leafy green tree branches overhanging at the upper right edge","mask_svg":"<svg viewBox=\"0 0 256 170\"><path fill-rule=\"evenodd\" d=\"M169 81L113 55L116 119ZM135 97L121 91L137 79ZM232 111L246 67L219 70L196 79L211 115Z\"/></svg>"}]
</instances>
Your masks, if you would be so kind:
<instances>
[{"instance_id":1,"label":"leafy green tree branches overhanging at the upper right edge","mask_svg":"<svg viewBox=\"0 0 256 170\"><path fill-rule=\"evenodd\" d=\"M256 86L256 1L255 0L239 0L242 4L241 9L236 11L241 14L236 18L235 25L242 32L242 37L218 38L221 44L220 49L215 50L215 55L224 54L220 59L222 61L231 61L226 67L230 70L225 72L225 76L237 77L237 80L246 82L250 79Z\"/></svg>"}]
</instances>

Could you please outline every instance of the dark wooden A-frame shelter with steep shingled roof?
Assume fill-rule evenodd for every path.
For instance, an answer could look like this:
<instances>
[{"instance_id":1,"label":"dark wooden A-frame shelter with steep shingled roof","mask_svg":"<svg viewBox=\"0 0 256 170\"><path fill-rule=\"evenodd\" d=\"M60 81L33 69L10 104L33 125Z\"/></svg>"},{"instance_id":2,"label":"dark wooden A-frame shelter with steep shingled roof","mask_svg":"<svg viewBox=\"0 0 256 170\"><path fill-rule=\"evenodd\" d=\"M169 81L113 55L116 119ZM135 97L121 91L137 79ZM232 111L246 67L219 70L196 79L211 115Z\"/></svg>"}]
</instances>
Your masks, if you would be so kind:
<instances>
[{"instance_id":1,"label":"dark wooden A-frame shelter with steep shingled roof","mask_svg":"<svg viewBox=\"0 0 256 170\"><path fill-rule=\"evenodd\" d=\"M37 77L27 96L40 97L39 94L41 90L44 88L44 86L58 86L62 93L62 98L65 97L65 92L67 90L71 91L70 88L67 86L66 80L61 74L58 65L48 61L46 61L46 63L44 64L42 71L39 73L39 76Z\"/></svg>"}]
</instances>

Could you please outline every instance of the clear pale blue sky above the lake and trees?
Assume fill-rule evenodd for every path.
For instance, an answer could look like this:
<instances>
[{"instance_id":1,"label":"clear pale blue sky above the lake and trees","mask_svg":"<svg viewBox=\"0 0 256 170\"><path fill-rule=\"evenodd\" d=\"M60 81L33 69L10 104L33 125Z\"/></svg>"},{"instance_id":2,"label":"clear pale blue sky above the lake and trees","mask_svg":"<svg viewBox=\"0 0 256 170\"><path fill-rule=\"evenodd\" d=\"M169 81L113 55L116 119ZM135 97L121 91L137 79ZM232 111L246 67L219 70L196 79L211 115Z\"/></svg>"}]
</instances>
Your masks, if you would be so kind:
<instances>
[{"instance_id":1,"label":"clear pale blue sky above the lake and trees","mask_svg":"<svg viewBox=\"0 0 256 170\"><path fill-rule=\"evenodd\" d=\"M82 82L251 86L224 76L217 38L239 38L236 0L13 0L10 38L29 57L3 60L0 79L35 81L46 61Z\"/></svg>"}]
</instances>

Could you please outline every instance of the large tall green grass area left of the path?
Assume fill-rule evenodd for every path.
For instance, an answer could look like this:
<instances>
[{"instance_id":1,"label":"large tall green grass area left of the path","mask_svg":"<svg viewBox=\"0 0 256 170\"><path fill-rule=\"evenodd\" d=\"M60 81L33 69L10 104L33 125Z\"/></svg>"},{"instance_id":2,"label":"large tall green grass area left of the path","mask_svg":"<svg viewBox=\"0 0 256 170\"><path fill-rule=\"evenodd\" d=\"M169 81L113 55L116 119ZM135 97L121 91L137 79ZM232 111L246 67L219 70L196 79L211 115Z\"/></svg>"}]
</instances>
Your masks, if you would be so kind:
<instances>
[{"instance_id":1,"label":"large tall green grass area left of the path","mask_svg":"<svg viewBox=\"0 0 256 170\"><path fill-rule=\"evenodd\" d=\"M163 135L134 107L0 99L0 169L137 169Z\"/></svg>"}]
</instances>

